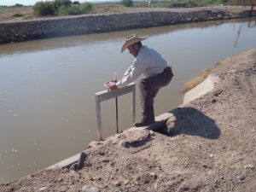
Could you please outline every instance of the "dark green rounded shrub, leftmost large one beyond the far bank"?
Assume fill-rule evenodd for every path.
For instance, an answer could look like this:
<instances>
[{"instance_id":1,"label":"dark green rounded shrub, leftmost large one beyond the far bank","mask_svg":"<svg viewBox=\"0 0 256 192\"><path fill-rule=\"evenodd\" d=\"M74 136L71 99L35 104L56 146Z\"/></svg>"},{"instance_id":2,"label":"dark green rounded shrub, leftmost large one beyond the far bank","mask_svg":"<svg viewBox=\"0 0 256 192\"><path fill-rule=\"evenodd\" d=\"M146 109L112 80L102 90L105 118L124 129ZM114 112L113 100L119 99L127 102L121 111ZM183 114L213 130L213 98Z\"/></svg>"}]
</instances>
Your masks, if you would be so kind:
<instances>
[{"instance_id":1,"label":"dark green rounded shrub, leftmost large one beyond the far bank","mask_svg":"<svg viewBox=\"0 0 256 192\"><path fill-rule=\"evenodd\" d=\"M34 5L34 14L37 16L41 15L55 15L55 5L53 2L46 1L46 2L38 2Z\"/></svg>"}]
</instances>

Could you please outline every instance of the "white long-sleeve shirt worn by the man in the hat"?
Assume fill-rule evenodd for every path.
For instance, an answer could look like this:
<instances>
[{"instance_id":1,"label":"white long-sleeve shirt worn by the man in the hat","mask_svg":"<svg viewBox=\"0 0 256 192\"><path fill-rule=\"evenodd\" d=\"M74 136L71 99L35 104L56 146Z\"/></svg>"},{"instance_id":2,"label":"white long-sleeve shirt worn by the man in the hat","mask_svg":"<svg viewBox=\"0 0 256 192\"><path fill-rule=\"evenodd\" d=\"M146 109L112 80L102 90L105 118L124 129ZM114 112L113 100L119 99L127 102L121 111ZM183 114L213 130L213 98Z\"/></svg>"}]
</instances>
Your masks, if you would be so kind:
<instances>
[{"instance_id":1,"label":"white long-sleeve shirt worn by the man in the hat","mask_svg":"<svg viewBox=\"0 0 256 192\"><path fill-rule=\"evenodd\" d=\"M116 85L118 88L125 87L135 81L141 74L148 78L163 73L166 67L168 67L168 62L158 52L143 46L131 66L125 71L124 77Z\"/></svg>"}]
</instances>

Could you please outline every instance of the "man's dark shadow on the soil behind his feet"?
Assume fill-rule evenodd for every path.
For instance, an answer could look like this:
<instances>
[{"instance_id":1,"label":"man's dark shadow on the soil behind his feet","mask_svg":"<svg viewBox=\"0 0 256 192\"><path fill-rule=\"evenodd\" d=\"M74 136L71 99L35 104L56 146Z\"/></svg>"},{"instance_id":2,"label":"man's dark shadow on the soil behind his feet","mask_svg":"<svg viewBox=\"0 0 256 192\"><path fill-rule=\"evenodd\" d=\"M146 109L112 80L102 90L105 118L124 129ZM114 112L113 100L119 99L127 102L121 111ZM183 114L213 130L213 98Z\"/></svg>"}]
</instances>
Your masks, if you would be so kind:
<instances>
[{"instance_id":1,"label":"man's dark shadow on the soil behind his feet","mask_svg":"<svg viewBox=\"0 0 256 192\"><path fill-rule=\"evenodd\" d=\"M221 132L215 125L215 121L207 117L196 108L176 108L166 125L158 129L158 132L170 137L178 135L190 135L218 139Z\"/></svg>"}]
</instances>

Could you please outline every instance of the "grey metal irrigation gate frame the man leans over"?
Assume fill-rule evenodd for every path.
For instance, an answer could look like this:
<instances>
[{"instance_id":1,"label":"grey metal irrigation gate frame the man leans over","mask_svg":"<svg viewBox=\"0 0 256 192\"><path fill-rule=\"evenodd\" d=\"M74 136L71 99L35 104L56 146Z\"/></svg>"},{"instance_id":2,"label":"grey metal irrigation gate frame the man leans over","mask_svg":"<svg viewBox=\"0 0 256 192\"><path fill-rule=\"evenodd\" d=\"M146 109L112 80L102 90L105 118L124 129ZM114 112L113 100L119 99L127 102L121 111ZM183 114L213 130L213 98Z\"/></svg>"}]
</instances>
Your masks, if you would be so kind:
<instances>
[{"instance_id":1,"label":"grey metal irrigation gate frame the man leans over","mask_svg":"<svg viewBox=\"0 0 256 192\"><path fill-rule=\"evenodd\" d=\"M101 114L101 102L107 101L109 99L115 98L116 101L116 126L118 131L118 96L123 96L127 93L133 93L133 110L132 110L132 122L135 121L135 102L136 102L136 84L129 84L118 90L102 90L100 92L95 93L96 100L96 124L98 131L98 138L102 140L102 114Z\"/></svg>"}]
</instances>

